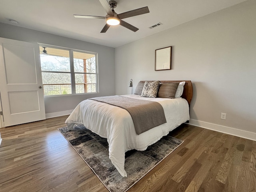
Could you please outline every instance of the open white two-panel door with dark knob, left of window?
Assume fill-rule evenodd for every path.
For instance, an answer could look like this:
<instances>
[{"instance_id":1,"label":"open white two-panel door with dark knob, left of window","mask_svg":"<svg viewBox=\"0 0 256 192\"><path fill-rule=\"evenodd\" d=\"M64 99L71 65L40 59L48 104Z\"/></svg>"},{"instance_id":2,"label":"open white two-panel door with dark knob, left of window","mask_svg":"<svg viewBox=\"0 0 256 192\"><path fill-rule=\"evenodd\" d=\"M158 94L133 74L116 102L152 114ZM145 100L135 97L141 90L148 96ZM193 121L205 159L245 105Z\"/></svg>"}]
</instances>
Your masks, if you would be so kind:
<instances>
[{"instance_id":1,"label":"open white two-panel door with dark knob, left of window","mask_svg":"<svg viewBox=\"0 0 256 192\"><path fill-rule=\"evenodd\" d=\"M39 45L0 38L4 126L45 119Z\"/></svg>"}]
</instances>

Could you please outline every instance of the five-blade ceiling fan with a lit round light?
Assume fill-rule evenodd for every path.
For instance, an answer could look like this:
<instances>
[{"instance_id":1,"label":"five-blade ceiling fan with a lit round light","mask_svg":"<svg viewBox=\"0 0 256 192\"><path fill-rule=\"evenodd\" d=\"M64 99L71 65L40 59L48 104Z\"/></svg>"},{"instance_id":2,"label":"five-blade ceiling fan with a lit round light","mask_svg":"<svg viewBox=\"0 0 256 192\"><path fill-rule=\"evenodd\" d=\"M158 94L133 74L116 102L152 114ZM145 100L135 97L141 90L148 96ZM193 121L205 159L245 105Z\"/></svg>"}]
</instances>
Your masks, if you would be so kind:
<instances>
[{"instance_id":1,"label":"five-blade ceiling fan with a lit round light","mask_svg":"<svg viewBox=\"0 0 256 192\"><path fill-rule=\"evenodd\" d=\"M139 30L138 28L132 26L131 24L128 24L127 22L124 22L121 19L149 13L148 7L142 7L139 9L135 9L135 10L121 13L121 14L117 14L114 11L114 8L116 8L116 5L117 5L117 3L115 1L113 1L113 0L111 0L109 2L107 0L99 0L99 1L102 4L105 11L107 12L106 17L89 16L89 15L74 15L74 17L89 18L89 19L106 19L106 25L101 30L101 33L105 33L108 30L108 28L110 28L111 25L118 25L118 24L120 24L121 26L123 26L125 28L132 30L133 32L136 32Z\"/></svg>"}]
</instances>

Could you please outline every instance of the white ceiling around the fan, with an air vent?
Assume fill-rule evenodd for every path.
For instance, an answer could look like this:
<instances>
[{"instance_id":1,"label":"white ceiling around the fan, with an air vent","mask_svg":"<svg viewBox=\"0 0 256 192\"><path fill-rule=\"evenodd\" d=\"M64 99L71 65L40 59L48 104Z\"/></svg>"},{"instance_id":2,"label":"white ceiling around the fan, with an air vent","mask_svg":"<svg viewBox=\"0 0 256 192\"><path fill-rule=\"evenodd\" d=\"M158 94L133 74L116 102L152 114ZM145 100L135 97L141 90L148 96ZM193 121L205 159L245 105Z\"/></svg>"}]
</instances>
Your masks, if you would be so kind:
<instances>
[{"instance_id":1,"label":"white ceiling around the fan, with an air vent","mask_svg":"<svg viewBox=\"0 0 256 192\"><path fill-rule=\"evenodd\" d=\"M246 0L116 0L117 14L148 6L150 13L123 19L139 28L132 32L111 26L100 33L103 19L74 18L73 14L106 16L98 0L0 0L0 22L68 38L118 47L178 26ZM149 27L161 22L162 25Z\"/></svg>"}]
</instances>

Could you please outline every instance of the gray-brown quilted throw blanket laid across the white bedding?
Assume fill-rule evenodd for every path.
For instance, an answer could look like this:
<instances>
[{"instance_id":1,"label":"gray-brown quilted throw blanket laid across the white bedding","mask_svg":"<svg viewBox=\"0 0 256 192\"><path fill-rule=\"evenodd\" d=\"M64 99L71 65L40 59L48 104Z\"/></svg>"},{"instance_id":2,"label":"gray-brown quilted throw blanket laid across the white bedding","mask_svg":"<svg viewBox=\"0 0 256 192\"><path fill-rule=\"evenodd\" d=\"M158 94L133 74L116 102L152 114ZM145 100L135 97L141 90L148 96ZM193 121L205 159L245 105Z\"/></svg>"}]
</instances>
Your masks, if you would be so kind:
<instances>
[{"instance_id":1,"label":"gray-brown quilted throw blanket laid across the white bedding","mask_svg":"<svg viewBox=\"0 0 256 192\"><path fill-rule=\"evenodd\" d=\"M166 123L164 109L158 102L139 100L118 95L94 97L90 99L118 106L127 110L132 116L137 134L141 134L153 127Z\"/></svg>"}]
</instances>

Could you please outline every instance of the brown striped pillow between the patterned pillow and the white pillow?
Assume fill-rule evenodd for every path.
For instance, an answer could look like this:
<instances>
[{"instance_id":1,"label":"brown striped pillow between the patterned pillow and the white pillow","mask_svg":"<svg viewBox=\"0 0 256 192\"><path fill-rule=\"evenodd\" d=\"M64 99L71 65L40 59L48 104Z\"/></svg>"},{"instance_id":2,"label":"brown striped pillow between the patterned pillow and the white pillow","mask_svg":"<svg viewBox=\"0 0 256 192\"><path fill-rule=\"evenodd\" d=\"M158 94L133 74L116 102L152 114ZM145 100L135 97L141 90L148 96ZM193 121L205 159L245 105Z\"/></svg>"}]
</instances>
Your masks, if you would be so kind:
<instances>
[{"instance_id":1,"label":"brown striped pillow between the patterned pillow and the white pillow","mask_svg":"<svg viewBox=\"0 0 256 192\"><path fill-rule=\"evenodd\" d=\"M158 97L160 98L174 98L179 82L175 83L162 83L159 86Z\"/></svg>"}]
</instances>

